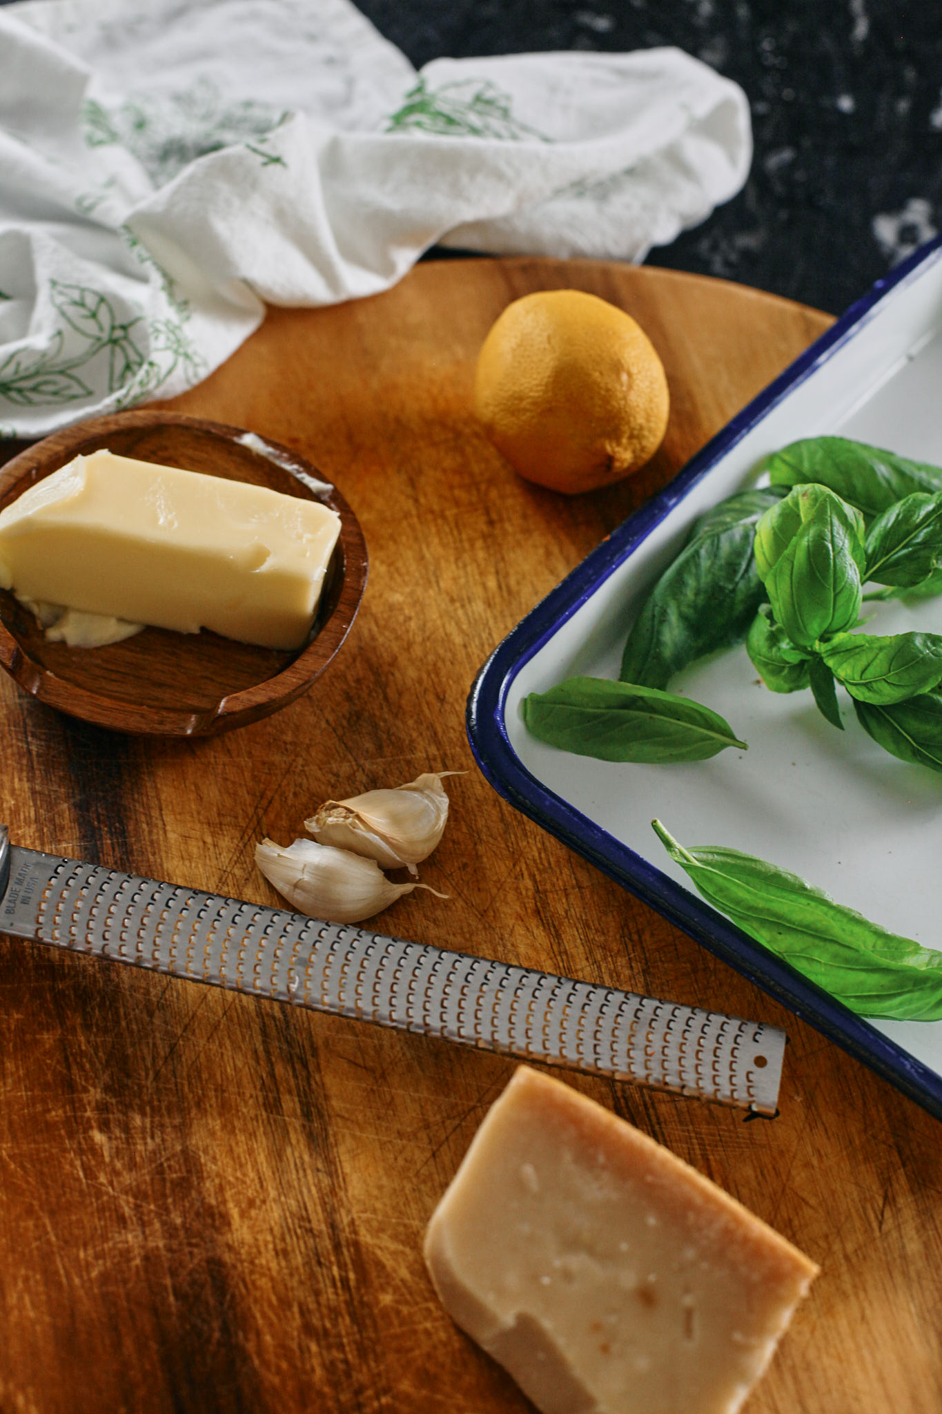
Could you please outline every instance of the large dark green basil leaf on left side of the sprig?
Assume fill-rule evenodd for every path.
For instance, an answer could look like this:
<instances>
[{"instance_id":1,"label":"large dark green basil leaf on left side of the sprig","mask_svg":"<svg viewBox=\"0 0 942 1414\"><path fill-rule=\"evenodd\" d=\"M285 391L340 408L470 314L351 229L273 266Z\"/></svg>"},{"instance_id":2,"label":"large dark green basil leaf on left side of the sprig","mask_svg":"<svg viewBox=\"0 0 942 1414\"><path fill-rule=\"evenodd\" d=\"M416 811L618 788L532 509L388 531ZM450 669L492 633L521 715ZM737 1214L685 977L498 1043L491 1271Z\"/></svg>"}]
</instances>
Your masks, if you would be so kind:
<instances>
[{"instance_id":1,"label":"large dark green basil leaf on left side of the sprig","mask_svg":"<svg viewBox=\"0 0 942 1414\"><path fill-rule=\"evenodd\" d=\"M756 525L782 495L740 491L700 516L628 633L624 682L667 687L695 659L743 642L765 598L753 559Z\"/></svg>"}]
</instances>

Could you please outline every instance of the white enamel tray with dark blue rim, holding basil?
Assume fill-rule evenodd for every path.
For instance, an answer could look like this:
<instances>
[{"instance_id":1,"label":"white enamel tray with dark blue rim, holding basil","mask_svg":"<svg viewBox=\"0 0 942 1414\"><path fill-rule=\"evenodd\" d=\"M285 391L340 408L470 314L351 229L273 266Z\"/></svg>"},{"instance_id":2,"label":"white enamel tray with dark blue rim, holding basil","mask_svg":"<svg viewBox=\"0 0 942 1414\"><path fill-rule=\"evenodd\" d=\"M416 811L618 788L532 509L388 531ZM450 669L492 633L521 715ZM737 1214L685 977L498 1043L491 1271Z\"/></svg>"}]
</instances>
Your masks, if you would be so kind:
<instances>
[{"instance_id":1,"label":"white enamel tray with dark blue rim, holding basil","mask_svg":"<svg viewBox=\"0 0 942 1414\"><path fill-rule=\"evenodd\" d=\"M613 765L544 745L520 718L527 693L576 673L617 677L627 629L696 516L751 485L765 452L823 433L942 465L942 239L878 281L517 625L475 683L467 731L513 805L942 1118L942 1021L856 1017L703 904L651 830L657 816L682 844L757 854L942 947L942 775L887 755L845 694L840 734L811 693L757 686L744 648L671 691L719 711L747 752ZM871 632L942 632L942 598L871 608Z\"/></svg>"}]
</instances>

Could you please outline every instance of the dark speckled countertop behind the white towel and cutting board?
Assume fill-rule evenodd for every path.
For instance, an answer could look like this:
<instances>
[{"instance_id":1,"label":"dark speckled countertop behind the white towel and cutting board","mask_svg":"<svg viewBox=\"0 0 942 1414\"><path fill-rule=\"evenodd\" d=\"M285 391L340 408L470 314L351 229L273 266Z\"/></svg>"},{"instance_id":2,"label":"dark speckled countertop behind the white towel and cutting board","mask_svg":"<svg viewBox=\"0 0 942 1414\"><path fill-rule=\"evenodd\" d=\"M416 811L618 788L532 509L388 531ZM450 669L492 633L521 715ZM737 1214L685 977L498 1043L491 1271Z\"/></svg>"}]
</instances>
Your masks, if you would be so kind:
<instances>
[{"instance_id":1,"label":"dark speckled countertop behind the white towel and cutting board","mask_svg":"<svg viewBox=\"0 0 942 1414\"><path fill-rule=\"evenodd\" d=\"M942 228L942 3L359 0L418 68L534 49L674 44L753 110L746 188L648 264L839 314Z\"/></svg>"}]
</instances>

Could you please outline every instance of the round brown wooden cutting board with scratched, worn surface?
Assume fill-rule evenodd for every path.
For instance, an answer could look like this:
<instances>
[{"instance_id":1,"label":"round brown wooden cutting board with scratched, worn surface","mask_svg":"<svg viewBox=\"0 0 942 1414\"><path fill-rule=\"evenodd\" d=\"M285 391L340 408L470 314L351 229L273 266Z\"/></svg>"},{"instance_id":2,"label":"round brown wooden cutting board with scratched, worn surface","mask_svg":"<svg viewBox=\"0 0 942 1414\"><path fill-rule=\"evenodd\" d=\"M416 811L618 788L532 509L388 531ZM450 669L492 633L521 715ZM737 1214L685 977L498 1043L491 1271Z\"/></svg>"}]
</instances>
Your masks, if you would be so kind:
<instances>
[{"instance_id":1,"label":"round brown wooden cutting board with scratched, worn surface","mask_svg":"<svg viewBox=\"0 0 942 1414\"><path fill-rule=\"evenodd\" d=\"M667 443L578 499L520 481L470 413L503 305L623 305L671 382ZM784 1027L780 1118L572 1076L823 1271L749 1414L942 1408L942 1130L517 814L463 728L500 638L829 324L723 281L595 262L422 264L387 294L274 311L181 411L287 443L357 512L371 574L312 691L212 741L123 738L0 682L16 843L261 902L263 834L427 769L452 819L376 923ZM0 939L3 1414L511 1414L442 1312L425 1222L513 1062Z\"/></svg>"}]
</instances>

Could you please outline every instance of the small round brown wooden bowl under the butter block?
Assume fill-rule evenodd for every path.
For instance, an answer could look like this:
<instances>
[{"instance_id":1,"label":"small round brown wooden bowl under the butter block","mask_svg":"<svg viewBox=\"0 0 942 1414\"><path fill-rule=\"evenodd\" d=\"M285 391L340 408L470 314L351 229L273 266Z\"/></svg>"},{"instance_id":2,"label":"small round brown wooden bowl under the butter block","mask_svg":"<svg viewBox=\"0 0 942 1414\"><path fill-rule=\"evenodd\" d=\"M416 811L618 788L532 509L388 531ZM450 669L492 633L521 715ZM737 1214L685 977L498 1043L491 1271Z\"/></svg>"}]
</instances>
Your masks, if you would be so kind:
<instances>
[{"instance_id":1,"label":"small round brown wooden bowl under the butter block","mask_svg":"<svg viewBox=\"0 0 942 1414\"><path fill-rule=\"evenodd\" d=\"M267 440L264 450L247 447L244 436L239 427L179 413L97 417L54 433L7 462L0 469L0 510L79 452L102 447L319 501L340 516L340 539L306 645L285 653L205 629L191 635L145 628L107 648L68 648L47 642L34 615L0 591L0 666L24 691L114 731L212 737L287 707L321 676L360 607L367 577L363 532L339 491L305 485L305 475L321 481L309 462Z\"/></svg>"}]
</instances>

